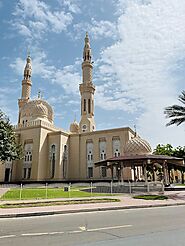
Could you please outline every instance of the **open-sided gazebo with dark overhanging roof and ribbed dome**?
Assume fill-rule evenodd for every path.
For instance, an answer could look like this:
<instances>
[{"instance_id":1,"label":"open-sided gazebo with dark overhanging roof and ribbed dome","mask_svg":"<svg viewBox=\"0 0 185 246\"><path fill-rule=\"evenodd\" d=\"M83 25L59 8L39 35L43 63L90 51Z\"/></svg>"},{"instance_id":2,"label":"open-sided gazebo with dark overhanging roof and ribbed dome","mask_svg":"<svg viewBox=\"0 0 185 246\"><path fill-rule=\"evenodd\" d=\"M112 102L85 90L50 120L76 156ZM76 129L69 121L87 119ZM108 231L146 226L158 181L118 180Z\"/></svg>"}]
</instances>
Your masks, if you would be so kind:
<instances>
[{"instance_id":1,"label":"open-sided gazebo with dark overhanging roof and ribbed dome","mask_svg":"<svg viewBox=\"0 0 185 246\"><path fill-rule=\"evenodd\" d=\"M130 180L145 182L148 181L147 171L150 170L151 181L156 181L156 173L160 170L160 179L165 185L170 184L174 179L174 170L185 171L183 158L153 155L149 143L138 136L127 142L123 156L99 161L95 163L95 166L105 166L110 169L112 179L115 169L118 181L125 179L125 168L130 170Z\"/></svg>"}]
</instances>

